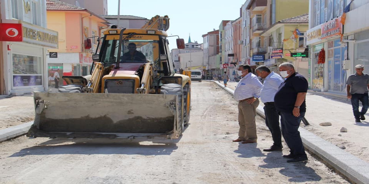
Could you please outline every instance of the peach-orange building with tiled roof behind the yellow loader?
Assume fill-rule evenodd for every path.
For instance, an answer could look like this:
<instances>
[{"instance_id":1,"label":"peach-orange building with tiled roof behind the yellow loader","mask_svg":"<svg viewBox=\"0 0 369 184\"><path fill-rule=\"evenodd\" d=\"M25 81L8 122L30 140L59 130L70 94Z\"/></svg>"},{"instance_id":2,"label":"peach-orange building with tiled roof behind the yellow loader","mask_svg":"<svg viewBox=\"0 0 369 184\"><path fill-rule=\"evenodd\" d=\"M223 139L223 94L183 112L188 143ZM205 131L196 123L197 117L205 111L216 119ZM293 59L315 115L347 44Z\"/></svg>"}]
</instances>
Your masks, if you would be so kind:
<instances>
[{"instance_id":1,"label":"peach-orange building with tiled roof behind the yellow loader","mask_svg":"<svg viewBox=\"0 0 369 184\"><path fill-rule=\"evenodd\" d=\"M85 8L55 0L46 0L46 10L48 28L59 32L58 49L48 50L48 74L59 69L61 76L89 75L100 28L108 26L107 20ZM90 49L84 47L87 38L92 39ZM50 81L49 85L53 87L55 83Z\"/></svg>"}]
</instances>

